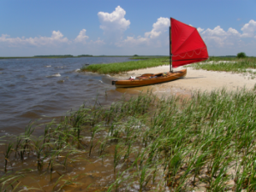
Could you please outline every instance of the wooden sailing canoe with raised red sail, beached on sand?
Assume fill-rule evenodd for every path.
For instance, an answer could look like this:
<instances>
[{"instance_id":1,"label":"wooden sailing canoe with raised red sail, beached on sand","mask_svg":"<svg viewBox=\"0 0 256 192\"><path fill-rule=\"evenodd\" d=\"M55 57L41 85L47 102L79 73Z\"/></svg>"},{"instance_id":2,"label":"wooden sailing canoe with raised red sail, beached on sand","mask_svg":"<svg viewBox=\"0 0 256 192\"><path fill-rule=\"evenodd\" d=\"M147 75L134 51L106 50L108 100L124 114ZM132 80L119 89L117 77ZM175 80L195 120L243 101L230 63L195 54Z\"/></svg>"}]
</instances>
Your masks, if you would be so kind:
<instances>
[{"instance_id":1,"label":"wooden sailing canoe with raised red sail, beached on sand","mask_svg":"<svg viewBox=\"0 0 256 192\"><path fill-rule=\"evenodd\" d=\"M116 87L135 87L160 84L186 76L187 69L173 72L172 68L205 61L209 58L205 42L197 28L170 18L170 72L143 74L128 80L114 80Z\"/></svg>"}]
</instances>

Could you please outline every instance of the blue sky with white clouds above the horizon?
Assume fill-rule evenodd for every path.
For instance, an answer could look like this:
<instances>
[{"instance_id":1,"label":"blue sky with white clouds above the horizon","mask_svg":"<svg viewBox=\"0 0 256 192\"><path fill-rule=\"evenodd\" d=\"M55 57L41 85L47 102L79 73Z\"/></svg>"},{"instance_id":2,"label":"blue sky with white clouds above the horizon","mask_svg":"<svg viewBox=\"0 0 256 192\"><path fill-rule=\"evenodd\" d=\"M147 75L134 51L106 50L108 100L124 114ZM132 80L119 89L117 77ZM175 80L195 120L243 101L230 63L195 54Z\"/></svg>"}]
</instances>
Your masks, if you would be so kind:
<instances>
[{"instance_id":1,"label":"blue sky with white clouds above the horizon","mask_svg":"<svg viewBox=\"0 0 256 192\"><path fill-rule=\"evenodd\" d=\"M255 0L2 0L0 56L168 55L170 17L209 55L256 56Z\"/></svg>"}]
</instances>

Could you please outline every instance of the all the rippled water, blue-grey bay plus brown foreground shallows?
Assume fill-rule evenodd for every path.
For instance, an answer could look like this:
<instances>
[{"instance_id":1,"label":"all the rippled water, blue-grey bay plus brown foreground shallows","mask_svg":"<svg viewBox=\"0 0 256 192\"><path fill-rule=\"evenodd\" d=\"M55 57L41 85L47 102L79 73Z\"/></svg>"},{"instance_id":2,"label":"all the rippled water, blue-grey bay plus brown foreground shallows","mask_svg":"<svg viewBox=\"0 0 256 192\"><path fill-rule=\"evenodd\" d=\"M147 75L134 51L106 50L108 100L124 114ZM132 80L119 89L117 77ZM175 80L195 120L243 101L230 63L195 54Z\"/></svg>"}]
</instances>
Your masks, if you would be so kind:
<instances>
[{"instance_id":1,"label":"all the rippled water, blue-grey bay plus brown foreground shallows","mask_svg":"<svg viewBox=\"0 0 256 192\"><path fill-rule=\"evenodd\" d=\"M52 119L60 119L71 109L79 108L83 102L86 102L86 106L93 106L96 101L96 106L110 105L112 102L120 100L124 92L128 98L127 95L137 94L138 91L152 90L152 86L116 89L110 84L112 78L109 75L80 73L79 70L86 63L107 64L122 61L129 61L129 58L0 60L0 137L4 135L18 136L20 133L24 133L25 127L30 121L37 120L35 124L39 125L50 122ZM173 91L172 88L166 90L168 93L171 91ZM133 131L139 127L140 131L146 131L146 125L141 125L138 122L139 125L136 122L131 124ZM115 123L112 125L122 128ZM2 167L0 168L0 177L3 178L3 181L8 179L5 188L88 192L106 191L112 184L115 184L113 186L116 191L141 191L142 173L139 174L139 171L142 170L141 162L144 157L140 160L140 165L134 164L134 162L145 145L135 139L132 142L133 149L128 153L126 152L129 150L127 146L123 146L122 150L117 147L117 140L113 139L116 136L110 136L109 128L106 125L104 125L105 129L100 127L98 131L95 131L93 137L92 127L86 127L85 124L84 130L80 133L81 140L75 140L74 130L73 133L59 134L63 129L57 131L57 128L60 128L58 124L51 127L56 132L49 130L47 134L46 131L47 141L46 137L44 139L37 137L44 136L45 125L37 126L33 136L29 139L27 137L4 137L1 144L6 143L6 145L0 145L0 151L7 154L7 146L12 148L8 159L4 159L3 154L1 155L2 159L0 158L0 167ZM138 141L141 140L140 131L136 132ZM51 137L57 137L60 140L52 140ZM14 141L9 141L9 138ZM120 137L120 139L122 138L125 137ZM80 147L75 141L80 141ZM63 145L63 143L69 143L70 146ZM72 146L76 144L77 146ZM62 145L65 147L62 148ZM41 147L43 153L40 152ZM123 154L124 152L128 153L126 159L127 154ZM121 159L115 159L116 155L121 155ZM39 162L42 165L41 170L39 170ZM5 165L5 163L7 164ZM5 166L7 172L4 172L3 167ZM161 167L158 169L158 174L155 175L156 171L154 171L153 177L147 177L149 180L147 180L143 191L165 189L164 172ZM20 175L21 173L22 175ZM12 183L13 180L9 180L9 177L13 177L15 174L19 176L18 182ZM119 177L122 180L119 180ZM117 183L115 183L116 181ZM9 185L9 183L12 184ZM166 191L169 189L166 188Z\"/></svg>"}]
</instances>

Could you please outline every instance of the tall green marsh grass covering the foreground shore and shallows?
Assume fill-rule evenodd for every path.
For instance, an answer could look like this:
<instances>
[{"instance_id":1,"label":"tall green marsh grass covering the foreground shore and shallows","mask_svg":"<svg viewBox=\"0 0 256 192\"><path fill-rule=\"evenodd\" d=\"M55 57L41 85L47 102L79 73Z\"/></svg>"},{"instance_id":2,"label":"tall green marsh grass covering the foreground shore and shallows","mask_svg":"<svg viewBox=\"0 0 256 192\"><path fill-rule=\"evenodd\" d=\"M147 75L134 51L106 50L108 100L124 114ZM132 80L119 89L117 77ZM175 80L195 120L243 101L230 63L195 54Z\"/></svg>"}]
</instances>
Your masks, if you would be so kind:
<instances>
[{"instance_id":1,"label":"tall green marsh grass covering the foreground shore and shallows","mask_svg":"<svg viewBox=\"0 0 256 192\"><path fill-rule=\"evenodd\" d=\"M254 90L160 100L148 92L110 107L81 106L45 125L44 136L33 137L28 125L6 144L2 190L24 189L37 177L47 185L36 180L26 189L254 191L255 117ZM100 165L110 175L88 172Z\"/></svg>"}]
</instances>

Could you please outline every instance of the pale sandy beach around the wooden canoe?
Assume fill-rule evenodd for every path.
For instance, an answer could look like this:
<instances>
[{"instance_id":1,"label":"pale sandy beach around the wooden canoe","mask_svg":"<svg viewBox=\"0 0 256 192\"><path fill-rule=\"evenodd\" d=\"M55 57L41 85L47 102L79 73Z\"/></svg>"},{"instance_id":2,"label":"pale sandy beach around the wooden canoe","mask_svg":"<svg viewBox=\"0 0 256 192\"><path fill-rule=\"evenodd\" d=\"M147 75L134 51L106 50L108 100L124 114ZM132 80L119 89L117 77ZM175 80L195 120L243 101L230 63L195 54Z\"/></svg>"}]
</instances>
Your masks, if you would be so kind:
<instances>
[{"instance_id":1,"label":"pale sandy beach around the wooden canoe","mask_svg":"<svg viewBox=\"0 0 256 192\"><path fill-rule=\"evenodd\" d=\"M183 67L177 67L174 71L181 70ZM133 90L152 89L159 95L166 93L179 93L182 95L191 94L193 90L211 91L226 88L227 90L236 90L246 88L253 89L256 79L250 75L241 73L213 72L205 70L194 70L187 67L187 76L164 84L154 84L142 88L129 88ZM116 75L116 79L128 79L130 76L140 76L143 73L164 73L170 71L170 66L152 67L140 70L130 71L122 75ZM125 90L125 89L123 89Z\"/></svg>"}]
</instances>

